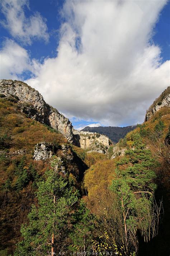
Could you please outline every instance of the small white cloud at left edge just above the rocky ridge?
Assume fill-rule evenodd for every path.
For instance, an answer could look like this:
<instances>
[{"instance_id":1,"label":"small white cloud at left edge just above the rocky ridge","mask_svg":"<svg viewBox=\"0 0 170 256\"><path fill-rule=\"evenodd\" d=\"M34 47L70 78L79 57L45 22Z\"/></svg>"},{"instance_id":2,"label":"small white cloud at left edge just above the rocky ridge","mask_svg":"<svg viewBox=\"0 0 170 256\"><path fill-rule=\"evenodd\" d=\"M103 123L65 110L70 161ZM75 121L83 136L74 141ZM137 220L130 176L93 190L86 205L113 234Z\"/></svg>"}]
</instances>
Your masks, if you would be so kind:
<instances>
[{"instance_id":1,"label":"small white cloud at left edge just above the rocky ridge","mask_svg":"<svg viewBox=\"0 0 170 256\"><path fill-rule=\"evenodd\" d=\"M0 79L19 79L20 74L30 69L27 51L13 40L6 39L0 50Z\"/></svg>"}]
</instances>

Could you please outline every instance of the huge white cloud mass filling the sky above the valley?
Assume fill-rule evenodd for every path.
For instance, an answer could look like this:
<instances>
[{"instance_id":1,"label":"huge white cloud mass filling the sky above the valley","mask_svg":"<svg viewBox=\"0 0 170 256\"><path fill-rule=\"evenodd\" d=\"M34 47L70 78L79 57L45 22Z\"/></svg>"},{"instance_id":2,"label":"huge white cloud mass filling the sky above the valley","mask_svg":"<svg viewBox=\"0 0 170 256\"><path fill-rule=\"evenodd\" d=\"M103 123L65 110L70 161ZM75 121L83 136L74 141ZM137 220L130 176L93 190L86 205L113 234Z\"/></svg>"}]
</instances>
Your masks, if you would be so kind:
<instances>
[{"instance_id":1,"label":"huge white cloud mass filling the sky above the valley","mask_svg":"<svg viewBox=\"0 0 170 256\"><path fill-rule=\"evenodd\" d=\"M38 89L66 116L102 125L141 123L169 83L169 61L150 44L166 0L66 0L56 58L33 61Z\"/></svg>"}]
</instances>

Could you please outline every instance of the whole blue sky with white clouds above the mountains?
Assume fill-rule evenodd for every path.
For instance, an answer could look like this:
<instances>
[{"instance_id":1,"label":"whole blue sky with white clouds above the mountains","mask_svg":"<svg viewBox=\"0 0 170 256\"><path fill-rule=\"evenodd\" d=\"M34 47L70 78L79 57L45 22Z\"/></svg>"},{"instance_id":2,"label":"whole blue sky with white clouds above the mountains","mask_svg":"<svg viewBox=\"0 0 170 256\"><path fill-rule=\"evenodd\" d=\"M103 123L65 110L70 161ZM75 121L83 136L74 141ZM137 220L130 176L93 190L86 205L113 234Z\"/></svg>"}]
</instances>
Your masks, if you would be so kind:
<instances>
[{"instance_id":1,"label":"whole blue sky with white clouds above the mountains","mask_svg":"<svg viewBox=\"0 0 170 256\"><path fill-rule=\"evenodd\" d=\"M1 78L27 81L75 128L141 123L169 84L166 0L1 2Z\"/></svg>"}]
</instances>

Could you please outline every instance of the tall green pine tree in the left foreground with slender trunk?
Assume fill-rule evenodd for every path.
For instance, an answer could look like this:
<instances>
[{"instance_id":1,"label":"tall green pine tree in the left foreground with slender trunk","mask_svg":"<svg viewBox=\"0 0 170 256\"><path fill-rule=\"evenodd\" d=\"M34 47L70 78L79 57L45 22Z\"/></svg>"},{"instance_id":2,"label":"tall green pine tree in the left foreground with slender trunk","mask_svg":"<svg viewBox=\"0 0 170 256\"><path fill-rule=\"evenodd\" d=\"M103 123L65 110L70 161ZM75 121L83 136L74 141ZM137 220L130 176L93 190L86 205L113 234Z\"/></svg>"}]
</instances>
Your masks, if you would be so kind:
<instances>
[{"instance_id":1,"label":"tall green pine tree in the left foreground with slender trunk","mask_svg":"<svg viewBox=\"0 0 170 256\"><path fill-rule=\"evenodd\" d=\"M66 250L67 229L77 190L53 169L46 171L46 181L39 182L38 207L32 206L29 225L23 225L23 241L15 255L52 255Z\"/></svg>"}]
</instances>

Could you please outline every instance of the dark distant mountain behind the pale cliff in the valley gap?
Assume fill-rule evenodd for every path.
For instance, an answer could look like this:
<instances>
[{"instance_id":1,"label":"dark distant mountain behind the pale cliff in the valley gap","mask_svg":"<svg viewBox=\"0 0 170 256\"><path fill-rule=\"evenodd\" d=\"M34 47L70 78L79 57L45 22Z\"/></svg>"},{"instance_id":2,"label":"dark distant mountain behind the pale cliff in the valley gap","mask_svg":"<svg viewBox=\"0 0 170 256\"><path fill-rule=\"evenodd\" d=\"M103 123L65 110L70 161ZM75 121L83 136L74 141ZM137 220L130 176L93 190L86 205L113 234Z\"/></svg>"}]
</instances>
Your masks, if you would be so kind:
<instances>
[{"instance_id":1,"label":"dark distant mountain behind the pale cliff in the valley gap","mask_svg":"<svg viewBox=\"0 0 170 256\"><path fill-rule=\"evenodd\" d=\"M114 127L114 126L99 126L99 127L89 127L86 126L81 131L84 132L97 132L100 134L107 135L113 143L117 143L120 138L124 138L126 134L132 130L134 130L137 127L137 125L130 125L126 127Z\"/></svg>"}]
</instances>

